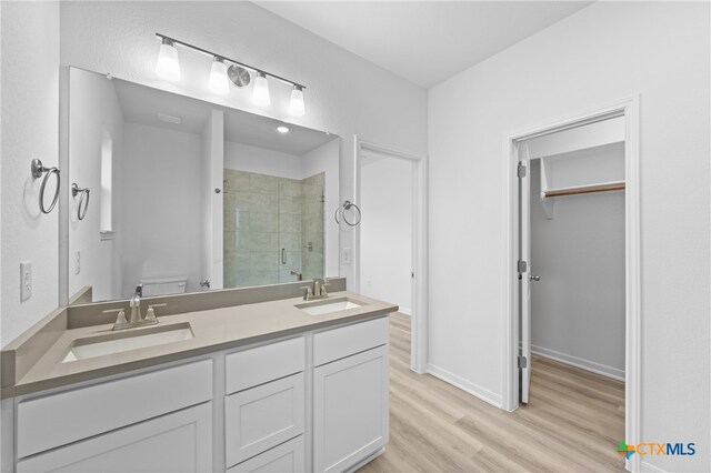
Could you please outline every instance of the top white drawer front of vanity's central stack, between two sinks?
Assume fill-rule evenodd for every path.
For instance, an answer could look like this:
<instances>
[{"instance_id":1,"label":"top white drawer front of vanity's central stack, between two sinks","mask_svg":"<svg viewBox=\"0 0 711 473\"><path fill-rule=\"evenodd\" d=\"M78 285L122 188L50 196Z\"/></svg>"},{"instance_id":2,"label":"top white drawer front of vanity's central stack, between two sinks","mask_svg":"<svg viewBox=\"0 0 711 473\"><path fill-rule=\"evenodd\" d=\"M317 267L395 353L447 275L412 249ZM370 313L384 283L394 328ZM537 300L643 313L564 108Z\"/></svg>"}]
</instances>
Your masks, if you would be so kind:
<instances>
[{"instance_id":1,"label":"top white drawer front of vanity's central stack, between two sinks","mask_svg":"<svg viewBox=\"0 0 711 473\"><path fill-rule=\"evenodd\" d=\"M258 384L303 371L306 343L303 336L230 353L226 358L227 393L231 394Z\"/></svg>"}]
</instances>

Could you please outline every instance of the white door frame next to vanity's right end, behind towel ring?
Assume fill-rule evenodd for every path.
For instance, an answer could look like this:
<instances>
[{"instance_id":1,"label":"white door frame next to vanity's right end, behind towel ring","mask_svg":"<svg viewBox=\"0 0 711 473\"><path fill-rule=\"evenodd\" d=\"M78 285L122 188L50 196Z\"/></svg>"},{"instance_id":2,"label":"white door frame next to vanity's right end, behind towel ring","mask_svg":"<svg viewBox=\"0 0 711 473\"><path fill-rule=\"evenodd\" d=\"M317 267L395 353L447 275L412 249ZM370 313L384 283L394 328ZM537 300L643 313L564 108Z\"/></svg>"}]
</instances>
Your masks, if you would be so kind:
<instances>
[{"instance_id":1,"label":"white door frame next to vanity's right end, behind towel ring","mask_svg":"<svg viewBox=\"0 0 711 473\"><path fill-rule=\"evenodd\" d=\"M427 372L428 364L428 157L400 151L377 144L354 135L353 163L356 203L361 202L361 154L372 151L412 162L412 313L410 341L410 369L417 373ZM353 240L353 284L360 292L360 225L354 228Z\"/></svg>"}]
</instances>

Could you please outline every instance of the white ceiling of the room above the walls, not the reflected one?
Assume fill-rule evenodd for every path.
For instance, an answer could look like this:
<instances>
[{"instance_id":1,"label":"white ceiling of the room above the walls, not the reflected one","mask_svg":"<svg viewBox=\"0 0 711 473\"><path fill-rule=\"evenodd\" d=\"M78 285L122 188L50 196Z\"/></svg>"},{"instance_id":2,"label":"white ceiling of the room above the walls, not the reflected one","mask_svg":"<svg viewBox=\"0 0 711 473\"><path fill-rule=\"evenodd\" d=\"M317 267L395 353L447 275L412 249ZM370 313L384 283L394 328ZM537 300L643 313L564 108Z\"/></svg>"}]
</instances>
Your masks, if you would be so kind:
<instances>
[{"instance_id":1,"label":"white ceiling of the room above the walls, not the reflected one","mask_svg":"<svg viewBox=\"0 0 711 473\"><path fill-rule=\"evenodd\" d=\"M254 1L430 88L591 1Z\"/></svg>"}]
</instances>

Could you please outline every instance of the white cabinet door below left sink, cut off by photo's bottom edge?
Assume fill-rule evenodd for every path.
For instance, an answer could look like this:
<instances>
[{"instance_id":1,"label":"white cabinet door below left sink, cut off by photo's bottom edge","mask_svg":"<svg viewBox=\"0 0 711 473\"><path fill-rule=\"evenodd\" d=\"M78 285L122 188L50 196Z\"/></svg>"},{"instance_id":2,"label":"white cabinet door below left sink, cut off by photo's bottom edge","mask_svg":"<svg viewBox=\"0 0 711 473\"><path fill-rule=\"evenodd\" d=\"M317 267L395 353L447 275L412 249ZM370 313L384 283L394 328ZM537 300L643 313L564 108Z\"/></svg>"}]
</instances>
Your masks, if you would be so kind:
<instances>
[{"instance_id":1,"label":"white cabinet door below left sink, cut off by photo's bottom edge","mask_svg":"<svg viewBox=\"0 0 711 473\"><path fill-rule=\"evenodd\" d=\"M23 472L210 472L212 403L21 460Z\"/></svg>"}]
</instances>

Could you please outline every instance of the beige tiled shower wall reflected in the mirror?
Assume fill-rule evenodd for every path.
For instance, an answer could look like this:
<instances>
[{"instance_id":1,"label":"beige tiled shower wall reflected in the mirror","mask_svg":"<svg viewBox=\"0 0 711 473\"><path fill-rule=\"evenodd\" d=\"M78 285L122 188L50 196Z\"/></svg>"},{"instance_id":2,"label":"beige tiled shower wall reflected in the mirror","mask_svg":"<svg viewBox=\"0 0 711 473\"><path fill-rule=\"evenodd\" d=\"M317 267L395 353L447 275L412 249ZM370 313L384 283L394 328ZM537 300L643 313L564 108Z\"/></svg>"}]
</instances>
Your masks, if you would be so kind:
<instances>
[{"instance_id":1,"label":"beige tiled shower wall reflected in the mirror","mask_svg":"<svg viewBox=\"0 0 711 473\"><path fill-rule=\"evenodd\" d=\"M324 182L224 170L224 288L323 278Z\"/></svg>"}]
</instances>

